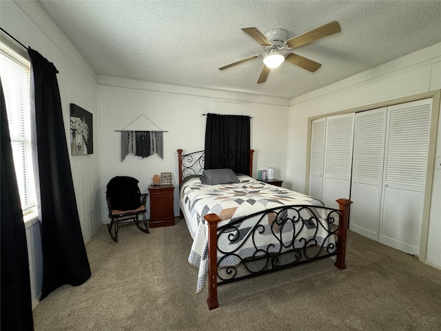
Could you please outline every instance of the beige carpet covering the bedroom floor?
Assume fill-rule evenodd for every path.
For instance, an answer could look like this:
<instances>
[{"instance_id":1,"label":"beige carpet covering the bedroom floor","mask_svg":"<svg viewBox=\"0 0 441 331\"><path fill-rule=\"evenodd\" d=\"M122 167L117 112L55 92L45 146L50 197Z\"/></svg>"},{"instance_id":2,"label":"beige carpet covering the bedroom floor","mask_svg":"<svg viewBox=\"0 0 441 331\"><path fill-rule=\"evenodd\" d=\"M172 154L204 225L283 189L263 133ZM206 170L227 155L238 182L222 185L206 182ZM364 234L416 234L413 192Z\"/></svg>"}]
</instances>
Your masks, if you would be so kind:
<instances>
[{"instance_id":1,"label":"beige carpet covering the bedroom floor","mask_svg":"<svg viewBox=\"0 0 441 331\"><path fill-rule=\"evenodd\" d=\"M347 269L331 259L218 288L220 307L195 294L185 221L101 227L87 245L92 277L64 285L34 310L50 330L441 330L441 270L349 232Z\"/></svg>"}]
</instances>

